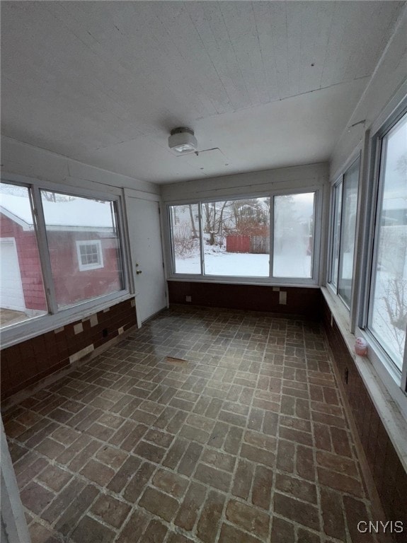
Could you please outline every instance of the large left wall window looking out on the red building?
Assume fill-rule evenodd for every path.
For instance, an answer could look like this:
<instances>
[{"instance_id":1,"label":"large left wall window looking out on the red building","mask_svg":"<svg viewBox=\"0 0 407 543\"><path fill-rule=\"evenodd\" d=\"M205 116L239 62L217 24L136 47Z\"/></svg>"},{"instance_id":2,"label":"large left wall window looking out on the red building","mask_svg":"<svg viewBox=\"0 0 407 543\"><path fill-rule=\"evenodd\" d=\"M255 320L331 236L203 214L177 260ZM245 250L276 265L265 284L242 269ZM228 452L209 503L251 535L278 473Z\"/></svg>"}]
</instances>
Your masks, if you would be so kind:
<instances>
[{"instance_id":1,"label":"large left wall window looking out on the red building","mask_svg":"<svg viewBox=\"0 0 407 543\"><path fill-rule=\"evenodd\" d=\"M122 291L117 202L1 183L1 326Z\"/></svg>"}]
</instances>

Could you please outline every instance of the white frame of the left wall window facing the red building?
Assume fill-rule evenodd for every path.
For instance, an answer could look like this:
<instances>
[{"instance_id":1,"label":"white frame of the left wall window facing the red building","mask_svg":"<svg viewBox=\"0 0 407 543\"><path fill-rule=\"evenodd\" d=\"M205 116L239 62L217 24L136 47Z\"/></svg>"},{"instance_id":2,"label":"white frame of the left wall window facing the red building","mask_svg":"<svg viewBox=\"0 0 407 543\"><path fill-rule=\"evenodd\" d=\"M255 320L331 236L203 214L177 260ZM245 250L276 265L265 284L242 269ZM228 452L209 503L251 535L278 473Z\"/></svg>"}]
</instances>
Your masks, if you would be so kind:
<instances>
[{"instance_id":1,"label":"white frame of the left wall window facing the red building","mask_svg":"<svg viewBox=\"0 0 407 543\"><path fill-rule=\"evenodd\" d=\"M16 185L28 188L30 194L30 204L33 213L33 223L35 235L37 238L38 252L40 255L40 265L42 269L42 281L44 284L45 298L47 300L46 315L38 315L23 322L6 326L0 329L1 348L6 348L25 341L40 334L50 332L58 327L69 324L74 320L79 320L98 311L109 308L115 303L128 300L134 296L134 289L130 290L130 267L129 255L127 253L127 230L124 222L124 208L122 191L111 187L108 192L103 189L86 189L78 186L67 186L62 183L42 181L23 175L2 175L1 182L7 185ZM110 187L109 187L110 188ZM52 280L52 269L50 254L47 245L47 233L45 227L45 217L42 210L42 198L40 190L47 192L57 192L58 194L67 194L75 197L101 199L113 202L115 227L117 236L120 240L120 259L122 269L122 289L114 293L108 293L104 296L98 296L83 302L75 303L69 308L58 309L55 297L54 282Z\"/></svg>"}]
</instances>

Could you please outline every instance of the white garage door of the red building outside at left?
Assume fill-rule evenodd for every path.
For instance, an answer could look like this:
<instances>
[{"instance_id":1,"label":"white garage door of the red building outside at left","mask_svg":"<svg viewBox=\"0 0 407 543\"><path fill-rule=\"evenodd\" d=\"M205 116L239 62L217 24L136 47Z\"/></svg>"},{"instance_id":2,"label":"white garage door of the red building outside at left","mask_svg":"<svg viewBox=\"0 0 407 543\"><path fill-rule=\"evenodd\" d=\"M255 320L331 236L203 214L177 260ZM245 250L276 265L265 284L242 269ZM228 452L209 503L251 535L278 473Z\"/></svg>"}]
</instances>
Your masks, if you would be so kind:
<instances>
[{"instance_id":1,"label":"white garage door of the red building outside at left","mask_svg":"<svg viewBox=\"0 0 407 543\"><path fill-rule=\"evenodd\" d=\"M0 305L3 309L24 311L23 284L21 283L20 266L18 265L16 240L3 238L0 240Z\"/></svg>"}]
</instances>

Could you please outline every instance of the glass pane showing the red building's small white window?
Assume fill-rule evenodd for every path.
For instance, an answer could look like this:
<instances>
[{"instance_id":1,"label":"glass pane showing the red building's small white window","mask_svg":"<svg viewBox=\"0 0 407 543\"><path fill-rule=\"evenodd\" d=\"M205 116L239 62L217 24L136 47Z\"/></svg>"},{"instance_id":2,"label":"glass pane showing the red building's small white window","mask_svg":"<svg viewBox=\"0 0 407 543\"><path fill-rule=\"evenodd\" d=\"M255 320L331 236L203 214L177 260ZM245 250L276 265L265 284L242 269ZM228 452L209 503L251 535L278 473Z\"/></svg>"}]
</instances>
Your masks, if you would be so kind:
<instances>
[{"instance_id":1,"label":"glass pane showing the red building's small white window","mask_svg":"<svg viewBox=\"0 0 407 543\"><path fill-rule=\"evenodd\" d=\"M113 202L41 191L58 308L124 288Z\"/></svg>"}]
</instances>

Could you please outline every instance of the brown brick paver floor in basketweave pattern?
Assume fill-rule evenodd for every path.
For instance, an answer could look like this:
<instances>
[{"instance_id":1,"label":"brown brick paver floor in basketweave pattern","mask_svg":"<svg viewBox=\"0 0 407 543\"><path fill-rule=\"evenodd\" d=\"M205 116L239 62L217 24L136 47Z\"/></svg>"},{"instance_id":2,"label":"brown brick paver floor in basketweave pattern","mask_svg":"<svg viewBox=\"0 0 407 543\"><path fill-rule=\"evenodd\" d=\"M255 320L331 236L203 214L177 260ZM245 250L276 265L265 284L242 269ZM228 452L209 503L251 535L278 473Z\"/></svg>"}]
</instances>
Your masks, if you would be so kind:
<instances>
[{"instance_id":1,"label":"brown brick paver floor in basketweave pattern","mask_svg":"<svg viewBox=\"0 0 407 543\"><path fill-rule=\"evenodd\" d=\"M175 307L4 421L33 543L376 541L316 323Z\"/></svg>"}]
</instances>

